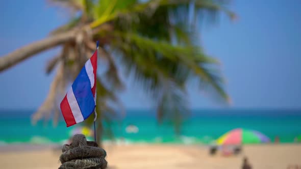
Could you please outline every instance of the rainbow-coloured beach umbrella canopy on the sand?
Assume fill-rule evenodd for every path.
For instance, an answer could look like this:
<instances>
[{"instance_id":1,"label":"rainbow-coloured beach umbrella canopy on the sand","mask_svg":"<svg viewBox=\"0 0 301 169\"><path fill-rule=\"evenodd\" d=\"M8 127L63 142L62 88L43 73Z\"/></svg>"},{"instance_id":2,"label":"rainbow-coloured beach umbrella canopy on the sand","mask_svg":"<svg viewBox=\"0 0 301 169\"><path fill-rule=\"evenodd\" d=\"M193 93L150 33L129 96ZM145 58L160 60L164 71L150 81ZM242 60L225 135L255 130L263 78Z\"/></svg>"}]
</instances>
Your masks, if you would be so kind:
<instances>
[{"instance_id":1,"label":"rainbow-coloured beach umbrella canopy on the sand","mask_svg":"<svg viewBox=\"0 0 301 169\"><path fill-rule=\"evenodd\" d=\"M245 130L237 128L220 136L217 145L242 145L242 144L259 144L270 142L269 137L255 130Z\"/></svg>"}]
</instances>

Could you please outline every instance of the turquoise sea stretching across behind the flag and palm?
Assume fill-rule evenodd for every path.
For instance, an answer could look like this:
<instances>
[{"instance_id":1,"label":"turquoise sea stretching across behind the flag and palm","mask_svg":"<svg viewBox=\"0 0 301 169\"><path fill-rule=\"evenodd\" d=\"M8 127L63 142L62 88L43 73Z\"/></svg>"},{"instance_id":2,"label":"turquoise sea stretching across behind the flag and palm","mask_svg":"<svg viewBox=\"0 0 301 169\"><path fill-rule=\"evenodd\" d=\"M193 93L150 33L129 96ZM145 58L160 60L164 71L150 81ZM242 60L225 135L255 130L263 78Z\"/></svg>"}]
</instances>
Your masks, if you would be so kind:
<instances>
[{"instance_id":1,"label":"turquoise sea stretching across behind the flag and palm","mask_svg":"<svg viewBox=\"0 0 301 169\"><path fill-rule=\"evenodd\" d=\"M0 110L0 145L61 144L74 129L74 126L67 128L63 120L56 127L51 122L32 126L32 113L29 110ZM126 132L130 124L139 128L138 133ZM301 110L192 110L180 135L174 134L170 123L158 125L155 113L149 110L128 110L126 118L111 124L117 143L122 140L127 143L208 144L234 128L258 130L271 140L278 136L281 143L292 143L301 134ZM109 142L109 137L105 136L104 140Z\"/></svg>"}]
</instances>

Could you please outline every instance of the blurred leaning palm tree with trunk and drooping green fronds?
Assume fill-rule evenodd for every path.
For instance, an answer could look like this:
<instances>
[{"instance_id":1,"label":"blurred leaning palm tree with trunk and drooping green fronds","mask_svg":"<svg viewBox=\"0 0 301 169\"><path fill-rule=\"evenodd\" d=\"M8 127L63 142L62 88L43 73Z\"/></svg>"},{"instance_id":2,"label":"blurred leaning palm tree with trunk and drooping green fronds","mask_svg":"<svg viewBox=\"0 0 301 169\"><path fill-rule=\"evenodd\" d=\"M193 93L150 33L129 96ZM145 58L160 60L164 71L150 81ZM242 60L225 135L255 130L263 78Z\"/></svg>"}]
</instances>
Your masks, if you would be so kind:
<instances>
[{"instance_id":1,"label":"blurred leaning palm tree with trunk and drooping green fronds","mask_svg":"<svg viewBox=\"0 0 301 169\"><path fill-rule=\"evenodd\" d=\"M219 62L208 57L197 45L199 22L213 20L219 12L235 15L222 0L51 0L66 7L69 23L58 27L49 37L17 49L0 58L4 71L33 55L61 46L61 53L48 63L46 73L56 70L48 96L33 115L33 123L60 111L58 95L76 78L99 40L99 54L107 70L97 77L97 132L103 121L122 107L117 94L123 90L119 74L134 76L135 82L152 98L158 121L168 119L175 131L189 113L187 83L211 90L228 101L223 89ZM99 63L101 64L101 63ZM119 66L119 68L117 67ZM55 69L57 68L57 69ZM112 104L113 103L113 104ZM113 106L112 106L113 105ZM117 105L117 106L116 106ZM88 120L88 123L91 119ZM101 135L101 134L98 134ZM101 140L101 137L98 138Z\"/></svg>"}]
</instances>

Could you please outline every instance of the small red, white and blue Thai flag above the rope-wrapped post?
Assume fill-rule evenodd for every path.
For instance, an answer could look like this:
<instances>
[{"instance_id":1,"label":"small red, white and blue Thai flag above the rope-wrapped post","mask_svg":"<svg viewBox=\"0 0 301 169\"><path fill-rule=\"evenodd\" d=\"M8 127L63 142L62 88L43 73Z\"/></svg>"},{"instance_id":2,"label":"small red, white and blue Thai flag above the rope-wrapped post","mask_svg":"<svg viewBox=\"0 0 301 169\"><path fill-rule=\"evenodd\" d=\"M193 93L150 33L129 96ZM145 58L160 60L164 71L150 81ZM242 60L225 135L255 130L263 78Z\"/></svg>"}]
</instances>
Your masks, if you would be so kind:
<instances>
[{"instance_id":1,"label":"small red, white and blue Thai flag above the rope-wrapped post","mask_svg":"<svg viewBox=\"0 0 301 169\"><path fill-rule=\"evenodd\" d=\"M97 50L86 62L61 102L67 127L83 122L93 113L96 105L96 70Z\"/></svg>"}]
</instances>

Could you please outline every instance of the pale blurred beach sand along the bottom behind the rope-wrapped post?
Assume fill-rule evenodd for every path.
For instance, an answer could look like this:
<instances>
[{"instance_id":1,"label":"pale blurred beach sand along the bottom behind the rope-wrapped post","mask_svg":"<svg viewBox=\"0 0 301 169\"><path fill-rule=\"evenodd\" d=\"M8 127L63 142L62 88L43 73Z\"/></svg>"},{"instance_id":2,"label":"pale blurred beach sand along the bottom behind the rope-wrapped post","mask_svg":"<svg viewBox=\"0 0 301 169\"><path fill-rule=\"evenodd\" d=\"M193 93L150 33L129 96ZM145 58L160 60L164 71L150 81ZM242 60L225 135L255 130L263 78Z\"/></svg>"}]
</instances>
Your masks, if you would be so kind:
<instances>
[{"instance_id":1,"label":"pale blurred beach sand along the bottom behind the rope-wrapped post","mask_svg":"<svg viewBox=\"0 0 301 169\"><path fill-rule=\"evenodd\" d=\"M210 156L208 148L185 145L105 145L109 168L240 168L247 156L253 168L301 166L301 145L244 146L238 156ZM0 168L58 168L61 152L53 146L1 146Z\"/></svg>"}]
</instances>

